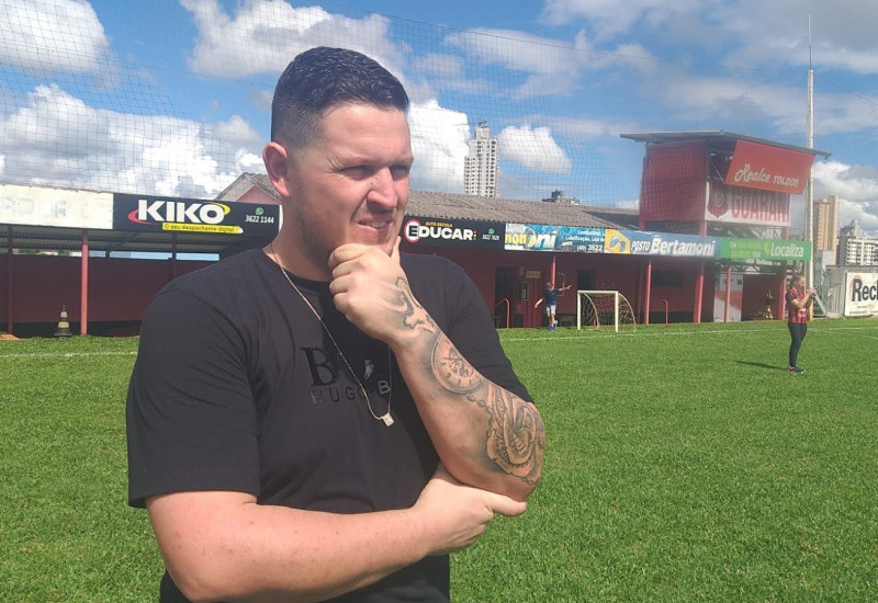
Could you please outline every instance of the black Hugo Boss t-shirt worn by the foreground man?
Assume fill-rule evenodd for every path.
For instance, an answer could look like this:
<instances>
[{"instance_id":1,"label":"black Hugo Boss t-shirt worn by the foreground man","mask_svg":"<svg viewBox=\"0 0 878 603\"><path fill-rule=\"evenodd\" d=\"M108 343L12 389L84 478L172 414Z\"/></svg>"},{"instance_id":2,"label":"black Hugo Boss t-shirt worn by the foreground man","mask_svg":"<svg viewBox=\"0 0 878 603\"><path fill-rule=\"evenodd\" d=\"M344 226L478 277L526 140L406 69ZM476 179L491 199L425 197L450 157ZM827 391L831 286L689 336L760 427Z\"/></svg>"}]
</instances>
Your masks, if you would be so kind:
<instances>
[{"instance_id":1,"label":"black Hugo Boss t-shirt worn by the foreground man","mask_svg":"<svg viewBox=\"0 0 878 603\"><path fill-rule=\"evenodd\" d=\"M415 297L486 378L526 400L472 281L403 254ZM249 492L261 504L336 513L412 507L438 457L387 345L353 327L327 283L293 277L261 250L177 278L150 303L127 401L128 498ZM365 553L365 551L364 551ZM448 557L428 557L334 601L447 601ZM185 601L170 578L162 603Z\"/></svg>"}]
</instances>

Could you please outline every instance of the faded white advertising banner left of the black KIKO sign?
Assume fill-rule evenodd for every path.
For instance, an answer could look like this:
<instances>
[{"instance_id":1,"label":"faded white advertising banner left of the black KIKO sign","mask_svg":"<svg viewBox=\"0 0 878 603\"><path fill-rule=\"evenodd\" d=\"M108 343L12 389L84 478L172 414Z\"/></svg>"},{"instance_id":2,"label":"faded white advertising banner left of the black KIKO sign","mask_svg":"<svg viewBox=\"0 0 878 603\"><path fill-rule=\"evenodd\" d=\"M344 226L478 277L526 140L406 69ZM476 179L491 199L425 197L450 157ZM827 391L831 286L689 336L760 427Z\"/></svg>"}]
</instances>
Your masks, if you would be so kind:
<instances>
[{"instance_id":1,"label":"faded white advertising banner left of the black KIKO sign","mask_svg":"<svg viewBox=\"0 0 878 603\"><path fill-rule=\"evenodd\" d=\"M113 228L113 194L0 184L0 224Z\"/></svg>"}]
</instances>

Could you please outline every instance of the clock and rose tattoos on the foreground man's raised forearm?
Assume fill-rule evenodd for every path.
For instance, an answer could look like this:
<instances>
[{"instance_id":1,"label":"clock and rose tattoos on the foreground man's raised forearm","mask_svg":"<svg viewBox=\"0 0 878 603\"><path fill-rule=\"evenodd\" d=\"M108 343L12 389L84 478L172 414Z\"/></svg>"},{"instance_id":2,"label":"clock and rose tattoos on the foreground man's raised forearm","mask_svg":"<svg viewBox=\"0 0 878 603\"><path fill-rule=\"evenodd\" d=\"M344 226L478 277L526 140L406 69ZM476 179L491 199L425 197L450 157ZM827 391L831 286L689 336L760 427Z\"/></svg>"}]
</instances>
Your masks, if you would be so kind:
<instances>
[{"instance_id":1,"label":"clock and rose tattoos on the foreground man's raised forearm","mask_svg":"<svg viewBox=\"0 0 878 603\"><path fill-rule=\"evenodd\" d=\"M434 344L431 361L432 373L443 388L464 395L487 413L485 452L494 470L499 468L536 485L545 430L533 406L485 379L443 334Z\"/></svg>"}]
</instances>

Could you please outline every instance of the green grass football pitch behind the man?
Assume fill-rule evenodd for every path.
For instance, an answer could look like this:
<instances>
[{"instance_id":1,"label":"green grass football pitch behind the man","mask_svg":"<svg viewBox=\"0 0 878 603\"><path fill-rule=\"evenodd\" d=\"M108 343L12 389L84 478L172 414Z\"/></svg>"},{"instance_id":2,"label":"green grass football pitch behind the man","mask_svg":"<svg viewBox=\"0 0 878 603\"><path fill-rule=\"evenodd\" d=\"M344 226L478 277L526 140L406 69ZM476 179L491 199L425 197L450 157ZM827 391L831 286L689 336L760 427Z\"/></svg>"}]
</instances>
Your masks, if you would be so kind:
<instances>
[{"instance_id":1,"label":"green grass football pitch behind the man","mask_svg":"<svg viewBox=\"0 0 878 603\"><path fill-rule=\"evenodd\" d=\"M878 600L878 320L500 333L547 423L522 517L453 556L459 602ZM155 601L125 504L137 340L0 342L0 601Z\"/></svg>"}]
</instances>

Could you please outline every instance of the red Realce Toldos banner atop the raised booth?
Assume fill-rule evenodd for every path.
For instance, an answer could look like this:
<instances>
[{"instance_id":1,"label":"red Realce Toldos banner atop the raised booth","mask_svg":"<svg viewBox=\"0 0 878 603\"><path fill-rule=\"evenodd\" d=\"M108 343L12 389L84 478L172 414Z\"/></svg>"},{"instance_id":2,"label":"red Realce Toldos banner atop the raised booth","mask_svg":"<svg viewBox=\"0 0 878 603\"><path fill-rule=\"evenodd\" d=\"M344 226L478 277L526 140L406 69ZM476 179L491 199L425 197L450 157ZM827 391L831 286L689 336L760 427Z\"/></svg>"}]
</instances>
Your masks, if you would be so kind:
<instances>
[{"instance_id":1,"label":"red Realce Toldos banner atop the raised booth","mask_svg":"<svg viewBox=\"0 0 878 603\"><path fill-rule=\"evenodd\" d=\"M814 156L810 152L736 140L724 182L733 186L800 195L813 162Z\"/></svg>"}]
</instances>

